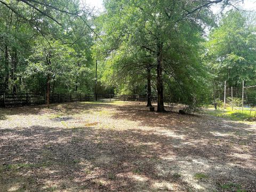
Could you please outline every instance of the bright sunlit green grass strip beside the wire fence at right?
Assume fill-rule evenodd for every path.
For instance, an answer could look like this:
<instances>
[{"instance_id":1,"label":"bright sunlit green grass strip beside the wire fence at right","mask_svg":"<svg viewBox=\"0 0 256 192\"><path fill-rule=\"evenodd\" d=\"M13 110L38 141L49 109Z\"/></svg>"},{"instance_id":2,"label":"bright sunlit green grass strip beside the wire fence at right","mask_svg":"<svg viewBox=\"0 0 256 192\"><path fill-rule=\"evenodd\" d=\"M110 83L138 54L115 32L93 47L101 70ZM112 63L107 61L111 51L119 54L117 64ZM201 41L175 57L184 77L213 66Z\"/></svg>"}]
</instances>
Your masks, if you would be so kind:
<instances>
[{"instance_id":1,"label":"bright sunlit green grass strip beside the wire fence at right","mask_svg":"<svg viewBox=\"0 0 256 192\"><path fill-rule=\"evenodd\" d=\"M206 110L207 114L216 116L216 117L223 117L223 118L228 118L231 119L233 121L244 121L246 119L249 119L250 117L254 117L254 113L255 111L251 111L251 115L250 115L250 110L248 109L244 109L242 111L242 109L238 110L238 109L234 109L231 110L231 108L227 108L225 110L221 110L221 109L209 109Z\"/></svg>"}]
</instances>

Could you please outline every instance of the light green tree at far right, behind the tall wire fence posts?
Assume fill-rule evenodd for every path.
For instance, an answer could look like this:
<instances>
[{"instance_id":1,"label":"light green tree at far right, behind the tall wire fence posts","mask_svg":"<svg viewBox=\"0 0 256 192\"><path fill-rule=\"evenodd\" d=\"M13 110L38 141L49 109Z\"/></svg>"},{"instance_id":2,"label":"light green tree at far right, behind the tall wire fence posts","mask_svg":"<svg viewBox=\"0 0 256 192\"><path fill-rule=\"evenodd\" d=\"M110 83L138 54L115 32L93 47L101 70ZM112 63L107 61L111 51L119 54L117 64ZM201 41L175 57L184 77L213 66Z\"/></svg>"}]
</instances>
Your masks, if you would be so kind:
<instances>
[{"instance_id":1,"label":"light green tree at far right, behind the tall wire fence posts","mask_svg":"<svg viewBox=\"0 0 256 192\"><path fill-rule=\"evenodd\" d=\"M230 10L222 16L209 36L207 61L214 71L214 82L227 81L238 87L255 76L256 26L251 14ZM251 21L250 21L251 20Z\"/></svg>"}]
</instances>

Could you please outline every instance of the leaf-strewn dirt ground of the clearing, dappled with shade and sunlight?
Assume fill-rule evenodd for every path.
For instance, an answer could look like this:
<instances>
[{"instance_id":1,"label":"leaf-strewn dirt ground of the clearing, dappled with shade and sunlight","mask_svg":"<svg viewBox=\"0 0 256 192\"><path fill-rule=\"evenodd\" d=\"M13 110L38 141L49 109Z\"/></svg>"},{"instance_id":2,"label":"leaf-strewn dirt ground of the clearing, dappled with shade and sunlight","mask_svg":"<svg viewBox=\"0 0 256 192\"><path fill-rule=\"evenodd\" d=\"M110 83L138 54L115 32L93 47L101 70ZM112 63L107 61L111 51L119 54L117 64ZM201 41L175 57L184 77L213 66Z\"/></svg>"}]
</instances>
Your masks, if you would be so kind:
<instances>
[{"instance_id":1,"label":"leaf-strewn dirt ground of the clearing, dappled with shade and sunlight","mask_svg":"<svg viewBox=\"0 0 256 192\"><path fill-rule=\"evenodd\" d=\"M138 102L0 111L0 191L256 191L253 123Z\"/></svg>"}]
</instances>

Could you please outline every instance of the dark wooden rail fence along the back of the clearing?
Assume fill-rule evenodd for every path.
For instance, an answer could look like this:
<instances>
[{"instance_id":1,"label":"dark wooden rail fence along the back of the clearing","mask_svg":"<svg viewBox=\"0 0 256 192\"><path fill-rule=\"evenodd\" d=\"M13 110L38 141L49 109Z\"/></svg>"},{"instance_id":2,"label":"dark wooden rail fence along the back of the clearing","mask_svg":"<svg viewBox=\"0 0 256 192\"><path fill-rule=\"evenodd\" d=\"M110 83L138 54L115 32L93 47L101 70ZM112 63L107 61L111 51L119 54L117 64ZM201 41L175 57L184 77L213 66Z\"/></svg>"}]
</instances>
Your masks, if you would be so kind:
<instances>
[{"instance_id":1,"label":"dark wooden rail fence along the back of the clearing","mask_svg":"<svg viewBox=\"0 0 256 192\"><path fill-rule=\"evenodd\" d=\"M0 94L0 106L12 107L23 105L43 105L46 103L46 94L35 93L2 93ZM147 95L117 95L117 94L50 94L50 103L63 102L81 102L81 101L147 101ZM156 101L157 97L151 97L152 101Z\"/></svg>"}]
</instances>

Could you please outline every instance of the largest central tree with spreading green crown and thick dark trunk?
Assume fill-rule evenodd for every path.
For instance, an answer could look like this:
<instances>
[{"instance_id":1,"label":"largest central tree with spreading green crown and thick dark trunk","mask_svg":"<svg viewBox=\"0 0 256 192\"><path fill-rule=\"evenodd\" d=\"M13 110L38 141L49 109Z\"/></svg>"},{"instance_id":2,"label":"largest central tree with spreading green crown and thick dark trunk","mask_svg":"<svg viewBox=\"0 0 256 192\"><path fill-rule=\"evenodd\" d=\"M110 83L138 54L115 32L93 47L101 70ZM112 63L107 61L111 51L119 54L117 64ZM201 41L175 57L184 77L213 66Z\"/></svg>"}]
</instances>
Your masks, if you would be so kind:
<instances>
[{"instance_id":1,"label":"largest central tree with spreading green crown and thick dark trunk","mask_svg":"<svg viewBox=\"0 0 256 192\"><path fill-rule=\"evenodd\" d=\"M209 22L212 14L207 9L222 1L105 1L106 13L101 15L103 52L116 54L119 49L139 47L153 58L157 71L157 111L164 111L163 71L174 62L169 58L173 42L189 36L188 30ZM226 3L231 3L227 1ZM237 1L236 1L237 2ZM177 32L178 31L178 32ZM181 33L181 34L180 34ZM126 46L126 48L124 48ZM182 47L182 45L180 45ZM113 57L109 57L111 59ZM167 62L167 63L166 63ZM166 64L164 64L166 63Z\"/></svg>"}]
</instances>

